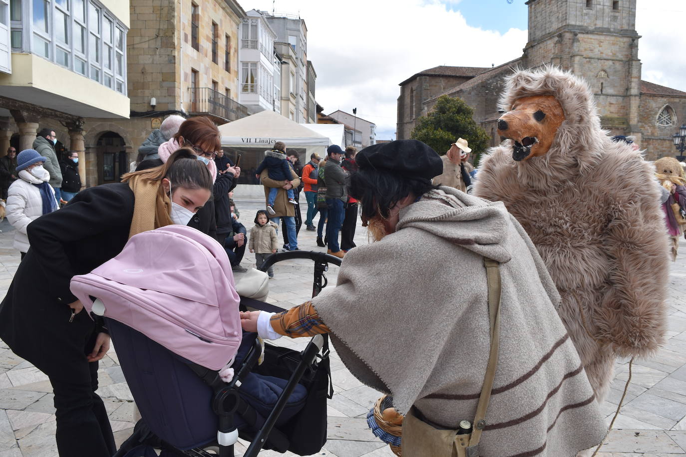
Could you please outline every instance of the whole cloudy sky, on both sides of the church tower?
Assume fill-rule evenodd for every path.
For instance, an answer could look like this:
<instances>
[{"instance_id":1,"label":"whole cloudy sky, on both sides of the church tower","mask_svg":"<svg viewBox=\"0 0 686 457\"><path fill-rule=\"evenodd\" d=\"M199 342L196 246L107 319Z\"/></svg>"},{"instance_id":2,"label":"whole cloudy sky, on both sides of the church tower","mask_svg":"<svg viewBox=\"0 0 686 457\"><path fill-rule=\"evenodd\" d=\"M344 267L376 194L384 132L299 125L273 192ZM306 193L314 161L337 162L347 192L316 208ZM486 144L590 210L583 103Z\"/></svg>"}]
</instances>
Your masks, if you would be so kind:
<instances>
[{"instance_id":1,"label":"whole cloudy sky, on both sides of the church tower","mask_svg":"<svg viewBox=\"0 0 686 457\"><path fill-rule=\"evenodd\" d=\"M686 91L686 0L636 1L643 79ZM359 117L377 124L378 139L395 138L398 84L414 73L520 57L527 40L524 3L241 0L246 10L274 8L305 19L307 58L317 72L316 99L324 113L356 107Z\"/></svg>"}]
</instances>

